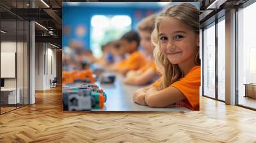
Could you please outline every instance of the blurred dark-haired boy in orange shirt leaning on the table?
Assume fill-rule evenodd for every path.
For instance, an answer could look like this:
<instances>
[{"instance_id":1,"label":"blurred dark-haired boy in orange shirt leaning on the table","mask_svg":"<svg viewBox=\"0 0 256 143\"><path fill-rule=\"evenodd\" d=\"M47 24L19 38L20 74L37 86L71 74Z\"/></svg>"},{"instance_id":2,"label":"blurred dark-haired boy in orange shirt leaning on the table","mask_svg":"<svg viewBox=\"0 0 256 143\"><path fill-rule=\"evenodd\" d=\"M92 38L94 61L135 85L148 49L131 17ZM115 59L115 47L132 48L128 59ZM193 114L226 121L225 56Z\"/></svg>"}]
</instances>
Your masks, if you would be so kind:
<instances>
[{"instance_id":1,"label":"blurred dark-haired boy in orange shirt leaning on the table","mask_svg":"<svg viewBox=\"0 0 256 143\"><path fill-rule=\"evenodd\" d=\"M140 45L140 36L136 31L129 31L120 38L120 46L125 54L129 54L122 64L118 64L116 72L126 74L131 70L138 70L146 64L145 56L138 50Z\"/></svg>"}]
</instances>

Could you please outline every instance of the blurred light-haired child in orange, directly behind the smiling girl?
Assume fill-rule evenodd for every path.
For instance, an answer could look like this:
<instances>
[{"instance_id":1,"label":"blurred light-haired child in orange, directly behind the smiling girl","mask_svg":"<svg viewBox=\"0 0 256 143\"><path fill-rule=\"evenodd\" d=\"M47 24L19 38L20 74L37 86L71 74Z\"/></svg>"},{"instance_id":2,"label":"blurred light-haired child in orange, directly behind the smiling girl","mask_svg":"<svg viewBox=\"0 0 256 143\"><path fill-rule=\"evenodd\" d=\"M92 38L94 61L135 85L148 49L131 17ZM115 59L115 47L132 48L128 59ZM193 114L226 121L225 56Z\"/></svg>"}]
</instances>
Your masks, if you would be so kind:
<instances>
[{"instance_id":1,"label":"blurred light-haired child in orange, directly behind the smiling girl","mask_svg":"<svg viewBox=\"0 0 256 143\"><path fill-rule=\"evenodd\" d=\"M126 84L145 85L156 79L154 78L157 76L156 65L152 57L154 45L150 38L151 33L154 30L155 18L156 15L150 15L141 20L141 22L138 24L138 31L141 38L140 43L143 50L145 50L145 52L148 54L147 64L145 64L145 66L141 67L139 70L128 72L124 79Z\"/></svg>"}]
</instances>

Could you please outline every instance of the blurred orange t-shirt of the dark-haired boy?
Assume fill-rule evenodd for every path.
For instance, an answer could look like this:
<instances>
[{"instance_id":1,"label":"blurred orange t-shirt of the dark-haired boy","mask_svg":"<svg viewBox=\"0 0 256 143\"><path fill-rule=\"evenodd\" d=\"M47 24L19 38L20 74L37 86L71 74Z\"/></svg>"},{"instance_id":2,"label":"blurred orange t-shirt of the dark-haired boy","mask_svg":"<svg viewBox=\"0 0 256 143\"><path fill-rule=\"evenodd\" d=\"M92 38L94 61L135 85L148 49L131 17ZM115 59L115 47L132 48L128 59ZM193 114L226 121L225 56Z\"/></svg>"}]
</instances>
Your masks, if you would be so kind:
<instances>
[{"instance_id":1,"label":"blurred orange t-shirt of the dark-haired boy","mask_svg":"<svg viewBox=\"0 0 256 143\"><path fill-rule=\"evenodd\" d=\"M129 70L138 70L147 63L145 56L140 51L132 52L132 54L125 59L124 63L119 64L119 69L128 68Z\"/></svg>"}]
</instances>

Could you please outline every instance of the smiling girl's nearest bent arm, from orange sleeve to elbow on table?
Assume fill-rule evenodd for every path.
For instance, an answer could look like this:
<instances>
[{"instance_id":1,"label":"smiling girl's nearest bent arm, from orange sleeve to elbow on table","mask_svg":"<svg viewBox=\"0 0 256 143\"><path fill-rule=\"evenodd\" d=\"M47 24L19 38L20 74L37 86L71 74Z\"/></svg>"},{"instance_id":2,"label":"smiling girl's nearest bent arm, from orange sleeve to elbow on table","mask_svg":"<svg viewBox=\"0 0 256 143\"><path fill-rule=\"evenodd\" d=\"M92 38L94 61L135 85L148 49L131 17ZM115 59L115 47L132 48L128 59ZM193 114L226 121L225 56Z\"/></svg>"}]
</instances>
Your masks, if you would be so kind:
<instances>
[{"instance_id":1,"label":"smiling girl's nearest bent arm, from orange sleeve to elbow on table","mask_svg":"<svg viewBox=\"0 0 256 143\"><path fill-rule=\"evenodd\" d=\"M166 87L161 91L156 87L150 87L145 94L145 102L149 107L167 107L184 99L184 95L172 86Z\"/></svg>"}]
</instances>

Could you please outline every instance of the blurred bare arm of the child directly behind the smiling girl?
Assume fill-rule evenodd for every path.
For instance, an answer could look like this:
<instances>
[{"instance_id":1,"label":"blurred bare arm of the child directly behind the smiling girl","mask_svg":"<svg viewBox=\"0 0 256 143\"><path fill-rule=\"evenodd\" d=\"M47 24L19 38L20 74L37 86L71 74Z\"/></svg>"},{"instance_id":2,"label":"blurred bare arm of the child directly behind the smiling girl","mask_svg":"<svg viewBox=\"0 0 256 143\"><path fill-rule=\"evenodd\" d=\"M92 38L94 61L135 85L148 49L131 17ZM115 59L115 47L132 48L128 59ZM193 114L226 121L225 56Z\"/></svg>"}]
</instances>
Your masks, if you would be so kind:
<instances>
[{"instance_id":1,"label":"blurred bare arm of the child directly behind the smiling girl","mask_svg":"<svg viewBox=\"0 0 256 143\"><path fill-rule=\"evenodd\" d=\"M125 84L141 86L148 84L155 76L156 72L152 68L148 68L148 70L143 73L125 78L124 82Z\"/></svg>"}]
</instances>

